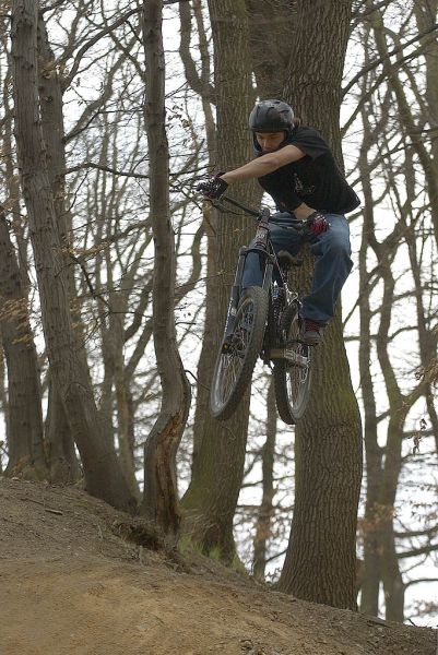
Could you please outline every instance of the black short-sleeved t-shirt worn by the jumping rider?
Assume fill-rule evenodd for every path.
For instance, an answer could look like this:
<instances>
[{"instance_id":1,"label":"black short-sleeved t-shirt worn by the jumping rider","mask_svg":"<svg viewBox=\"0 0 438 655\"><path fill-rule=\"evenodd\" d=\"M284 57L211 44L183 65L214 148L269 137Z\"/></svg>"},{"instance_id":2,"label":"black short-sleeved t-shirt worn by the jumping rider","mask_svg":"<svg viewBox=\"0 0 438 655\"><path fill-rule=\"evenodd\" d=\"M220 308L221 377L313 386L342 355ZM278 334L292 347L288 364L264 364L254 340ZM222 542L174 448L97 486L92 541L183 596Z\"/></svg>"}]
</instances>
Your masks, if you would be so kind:
<instances>
[{"instance_id":1,"label":"black short-sleeved t-shirt worn by the jumping rider","mask_svg":"<svg viewBox=\"0 0 438 655\"><path fill-rule=\"evenodd\" d=\"M317 130L295 128L284 145L295 145L305 156L259 178L279 211L294 212L305 202L320 212L345 214L360 204Z\"/></svg>"}]
</instances>

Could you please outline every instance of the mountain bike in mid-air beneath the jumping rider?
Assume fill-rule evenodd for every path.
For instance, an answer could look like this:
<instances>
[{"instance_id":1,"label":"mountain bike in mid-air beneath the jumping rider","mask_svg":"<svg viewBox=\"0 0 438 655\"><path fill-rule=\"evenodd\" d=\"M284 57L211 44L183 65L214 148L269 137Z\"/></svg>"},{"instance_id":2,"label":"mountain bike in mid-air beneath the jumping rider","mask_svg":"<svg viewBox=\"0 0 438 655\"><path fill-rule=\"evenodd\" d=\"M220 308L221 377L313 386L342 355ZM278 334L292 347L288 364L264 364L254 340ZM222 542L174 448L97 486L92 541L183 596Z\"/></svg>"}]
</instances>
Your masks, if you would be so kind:
<instances>
[{"instance_id":1,"label":"mountain bike in mid-air beneath the jumping rider","mask_svg":"<svg viewBox=\"0 0 438 655\"><path fill-rule=\"evenodd\" d=\"M239 250L211 385L211 412L220 420L234 414L251 382L257 359L261 357L272 368L279 415L285 424L294 425L307 407L312 365L312 346L300 340L299 293L287 282L291 266L299 266L303 261L287 251L275 254L268 207L256 211L226 195L221 196L223 201L254 216L257 231L254 246ZM284 229L303 231L307 227L307 222L303 222ZM260 287L242 289L245 261L250 252L259 255L263 283Z\"/></svg>"}]
</instances>

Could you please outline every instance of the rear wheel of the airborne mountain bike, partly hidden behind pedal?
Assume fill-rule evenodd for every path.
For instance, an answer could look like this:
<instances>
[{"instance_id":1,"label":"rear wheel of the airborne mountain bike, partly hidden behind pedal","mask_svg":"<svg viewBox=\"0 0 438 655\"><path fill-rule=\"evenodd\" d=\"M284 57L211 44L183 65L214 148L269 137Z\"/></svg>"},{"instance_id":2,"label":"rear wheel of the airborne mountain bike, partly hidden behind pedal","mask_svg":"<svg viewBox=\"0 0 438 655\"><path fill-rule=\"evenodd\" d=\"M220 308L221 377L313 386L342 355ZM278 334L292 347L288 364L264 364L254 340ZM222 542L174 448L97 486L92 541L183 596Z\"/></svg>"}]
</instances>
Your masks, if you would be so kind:
<instances>
[{"instance_id":1,"label":"rear wheel of the airborne mountain bike, partly hidden behind pedal","mask_svg":"<svg viewBox=\"0 0 438 655\"><path fill-rule=\"evenodd\" d=\"M308 360L306 368L292 364L287 359L275 359L273 376L275 402L280 418L286 425L295 425L306 412L311 384L311 347L298 342L298 305L292 302L283 313L281 327L286 334L288 349Z\"/></svg>"}]
</instances>

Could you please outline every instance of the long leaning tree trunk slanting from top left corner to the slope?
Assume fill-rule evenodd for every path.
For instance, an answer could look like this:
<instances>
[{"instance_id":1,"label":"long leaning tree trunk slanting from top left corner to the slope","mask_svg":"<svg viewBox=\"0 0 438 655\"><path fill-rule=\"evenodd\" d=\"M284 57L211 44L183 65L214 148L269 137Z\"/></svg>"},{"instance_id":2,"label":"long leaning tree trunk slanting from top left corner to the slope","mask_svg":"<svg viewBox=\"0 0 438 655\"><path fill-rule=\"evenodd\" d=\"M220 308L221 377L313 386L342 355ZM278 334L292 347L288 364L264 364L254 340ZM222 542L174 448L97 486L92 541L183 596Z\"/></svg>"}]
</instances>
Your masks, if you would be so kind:
<instances>
[{"instance_id":1,"label":"long leaning tree trunk slanting from top left corner to the slope","mask_svg":"<svg viewBox=\"0 0 438 655\"><path fill-rule=\"evenodd\" d=\"M81 453L87 491L114 507L132 510L135 503L114 445L104 438L87 372L76 352L38 114L37 21L37 2L14 0L11 36L15 134L50 374Z\"/></svg>"}]
</instances>

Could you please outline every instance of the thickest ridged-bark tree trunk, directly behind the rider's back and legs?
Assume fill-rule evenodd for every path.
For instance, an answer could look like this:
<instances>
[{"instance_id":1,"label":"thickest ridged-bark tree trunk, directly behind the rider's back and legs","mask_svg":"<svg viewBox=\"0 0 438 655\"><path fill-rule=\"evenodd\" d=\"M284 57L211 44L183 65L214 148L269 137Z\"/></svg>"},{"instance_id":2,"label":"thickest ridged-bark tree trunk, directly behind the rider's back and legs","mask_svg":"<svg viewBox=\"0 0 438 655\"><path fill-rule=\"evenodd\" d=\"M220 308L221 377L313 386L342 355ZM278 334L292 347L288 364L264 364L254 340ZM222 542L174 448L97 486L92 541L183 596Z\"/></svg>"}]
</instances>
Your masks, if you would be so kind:
<instances>
[{"instance_id":1,"label":"thickest ridged-bark tree trunk, directly behind the rider's back and legs","mask_svg":"<svg viewBox=\"0 0 438 655\"><path fill-rule=\"evenodd\" d=\"M297 38L285 87L305 124L319 129L342 162L339 111L351 1L297 2ZM312 262L301 272L308 284ZM362 429L342 338L341 308L316 349L310 403L296 428L295 509L279 588L356 609L356 522Z\"/></svg>"}]
</instances>

